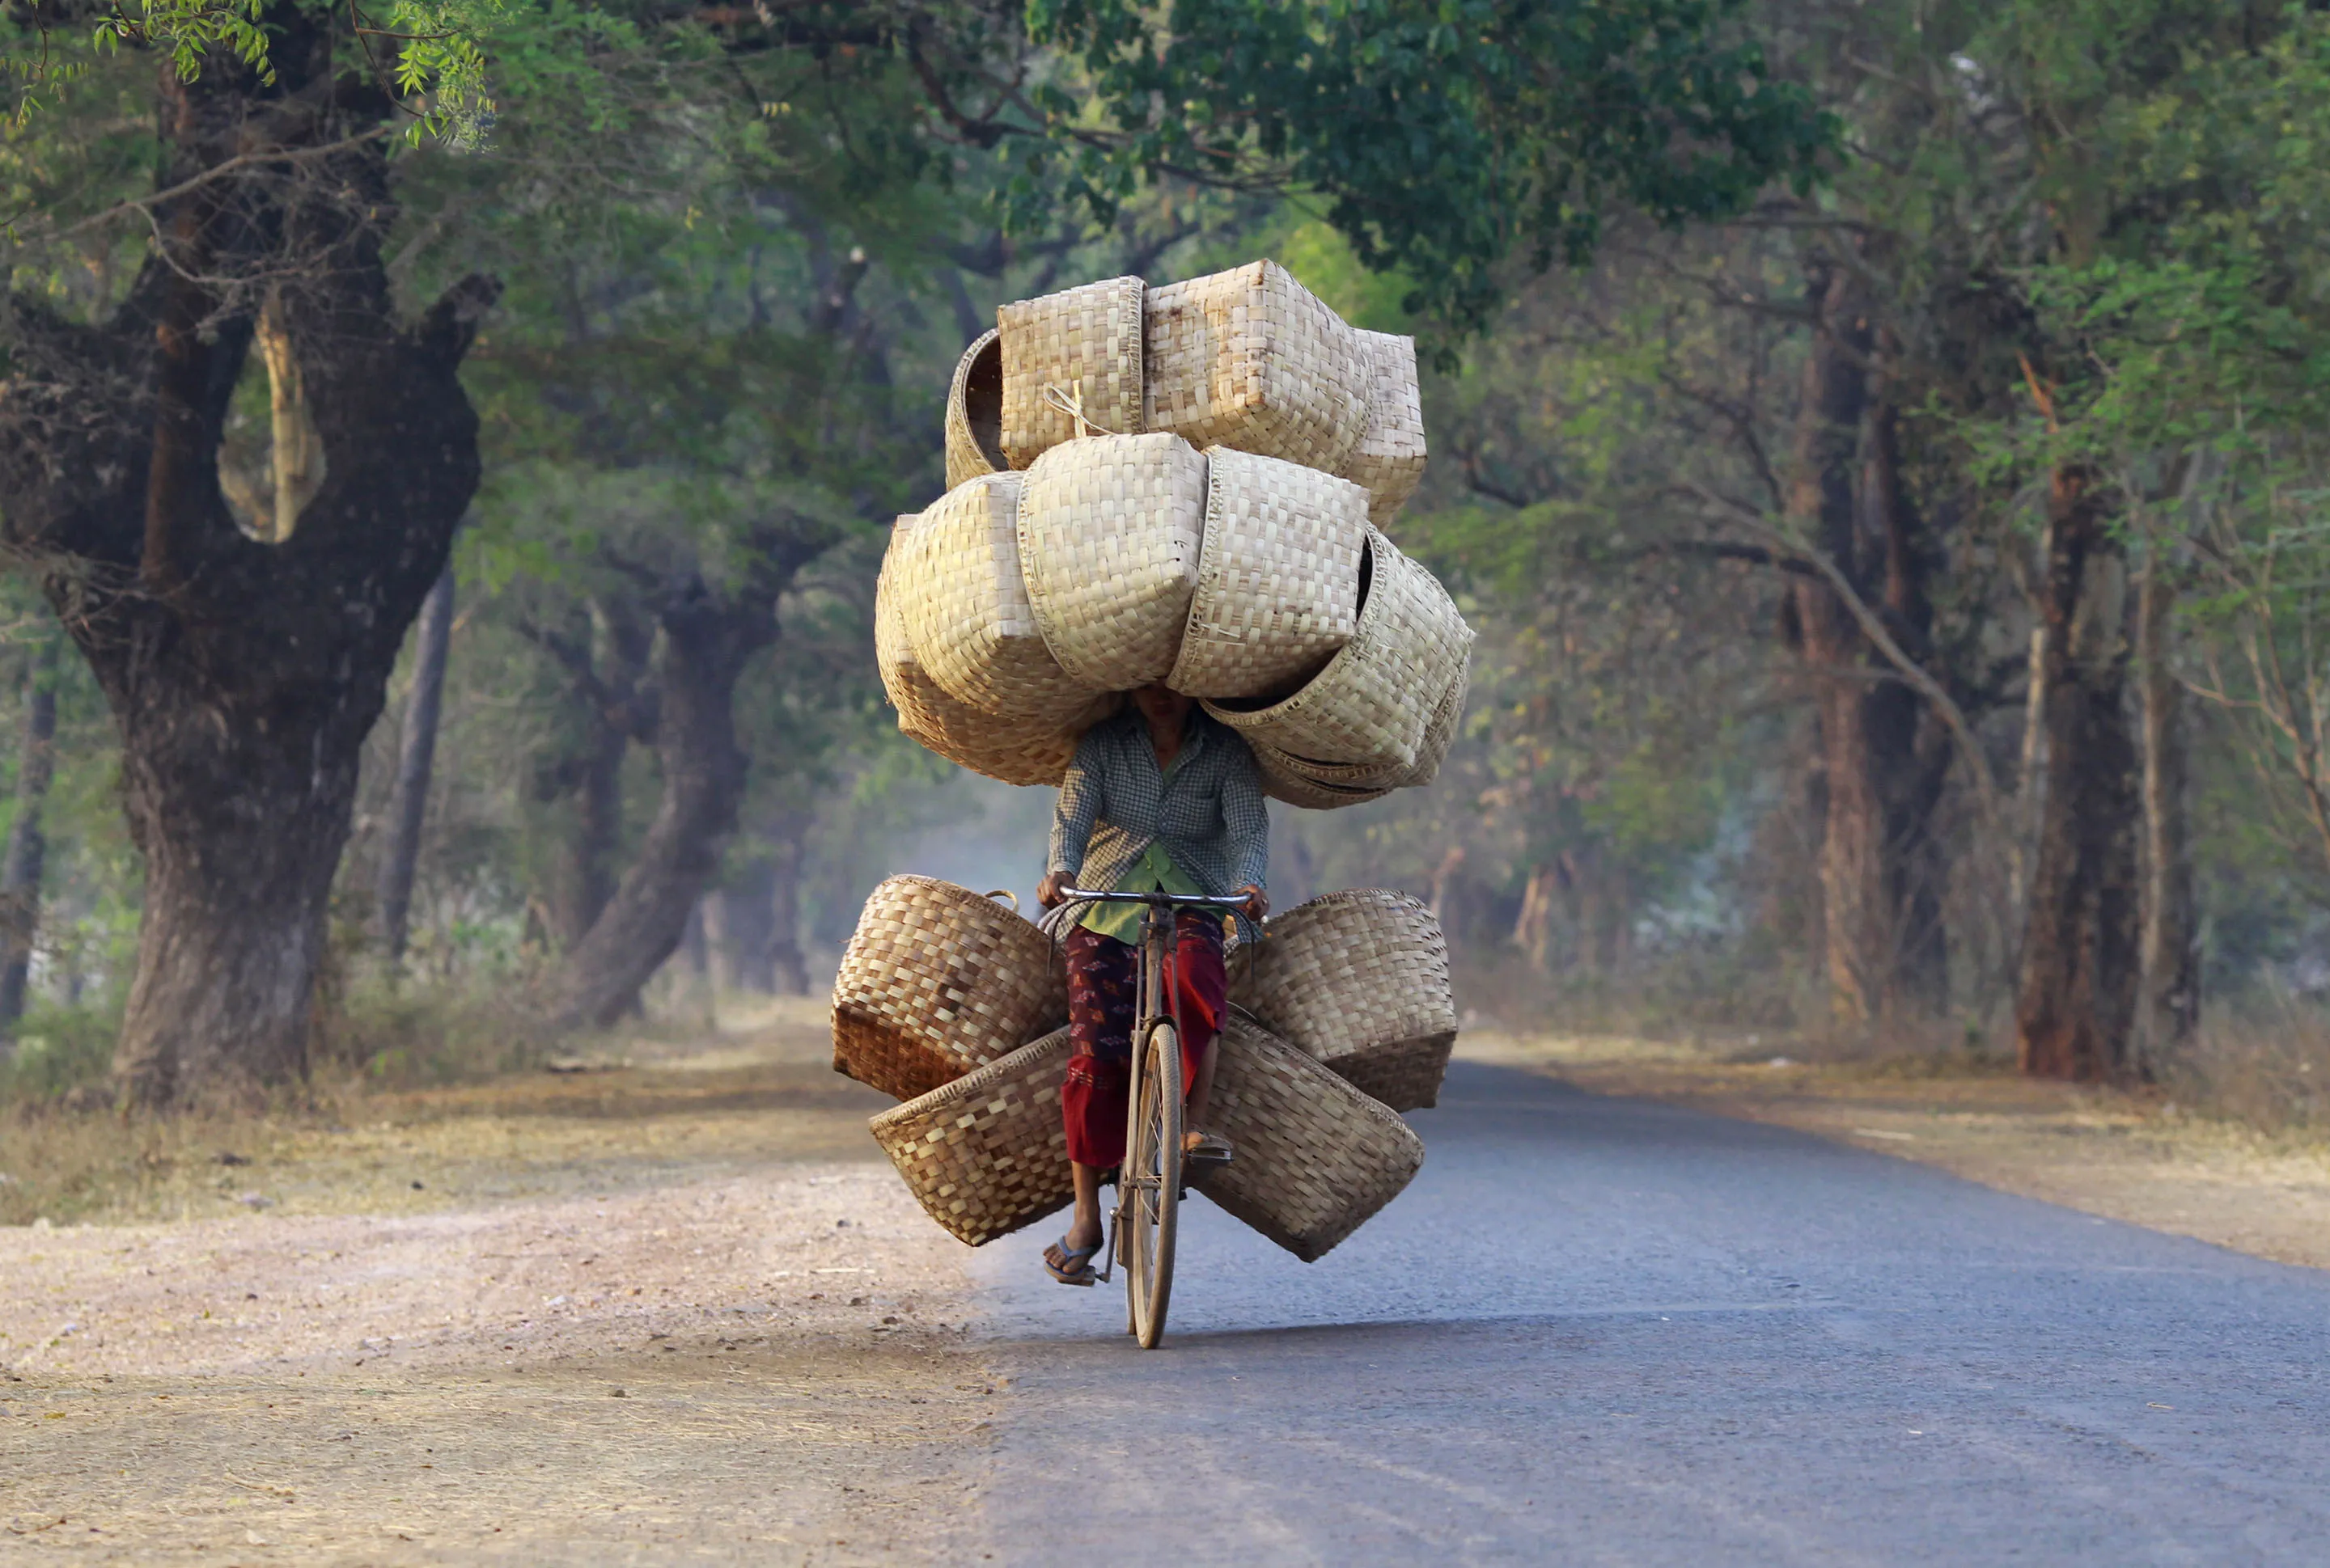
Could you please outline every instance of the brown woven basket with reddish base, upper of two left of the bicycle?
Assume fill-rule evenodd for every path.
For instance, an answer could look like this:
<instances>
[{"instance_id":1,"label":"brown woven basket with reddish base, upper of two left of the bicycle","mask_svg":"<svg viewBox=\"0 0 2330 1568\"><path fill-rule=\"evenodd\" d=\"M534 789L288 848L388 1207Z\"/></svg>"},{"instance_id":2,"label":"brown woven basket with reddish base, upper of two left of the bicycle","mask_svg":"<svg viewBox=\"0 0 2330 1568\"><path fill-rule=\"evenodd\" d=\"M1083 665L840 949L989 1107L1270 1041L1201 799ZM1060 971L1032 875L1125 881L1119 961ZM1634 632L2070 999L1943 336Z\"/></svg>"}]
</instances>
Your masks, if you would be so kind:
<instances>
[{"instance_id":1,"label":"brown woven basket with reddish base, upper of two left of the bicycle","mask_svg":"<svg viewBox=\"0 0 2330 1568\"><path fill-rule=\"evenodd\" d=\"M892 876L834 976L834 1072L911 1100L1067 1020L1051 944L969 888Z\"/></svg>"}]
</instances>

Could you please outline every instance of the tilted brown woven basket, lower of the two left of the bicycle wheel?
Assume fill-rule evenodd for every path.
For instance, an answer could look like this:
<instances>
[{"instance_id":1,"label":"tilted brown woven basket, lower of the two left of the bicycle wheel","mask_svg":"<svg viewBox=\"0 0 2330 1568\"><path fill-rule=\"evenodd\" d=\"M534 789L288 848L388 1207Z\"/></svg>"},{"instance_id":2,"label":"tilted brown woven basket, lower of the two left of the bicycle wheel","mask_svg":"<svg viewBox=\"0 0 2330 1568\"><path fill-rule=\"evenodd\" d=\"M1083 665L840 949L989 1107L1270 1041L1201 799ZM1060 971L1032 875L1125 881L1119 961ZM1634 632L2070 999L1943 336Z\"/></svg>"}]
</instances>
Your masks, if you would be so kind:
<instances>
[{"instance_id":1,"label":"tilted brown woven basket, lower of the two left of the bicycle wheel","mask_svg":"<svg viewBox=\"0 0 2330 1568\"><path fill-rule=\"evenodd\" d=\"M1076 1198L1060 1125L1065 1074L1067 1030L1053 1030L867 1125L916 1202L983 1246Z\"/></svg>"}]
</instances>

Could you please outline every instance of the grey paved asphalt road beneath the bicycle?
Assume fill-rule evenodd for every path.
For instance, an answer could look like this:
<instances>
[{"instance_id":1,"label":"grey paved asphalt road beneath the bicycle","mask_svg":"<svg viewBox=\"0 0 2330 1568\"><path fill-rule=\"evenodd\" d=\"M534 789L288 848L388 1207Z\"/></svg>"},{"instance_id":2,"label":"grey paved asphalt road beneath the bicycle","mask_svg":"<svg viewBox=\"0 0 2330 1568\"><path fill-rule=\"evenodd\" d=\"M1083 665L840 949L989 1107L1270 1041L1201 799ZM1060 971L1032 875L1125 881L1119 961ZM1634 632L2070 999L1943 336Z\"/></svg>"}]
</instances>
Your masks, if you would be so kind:
<instances>
[{"instance_id":1,"label":"grey paved asphalt road beneath the bicycle","mask_svg":"<svg viewBox=\"0 0 2330 1568\"><path fill-rule=\"evenodd\" d=\"M997 1563L2330 1563L2330 1274L1459 1062L1302 1265L1184 1209L1167 1347L979 1256Z\"/></svg>"}]
</instances>

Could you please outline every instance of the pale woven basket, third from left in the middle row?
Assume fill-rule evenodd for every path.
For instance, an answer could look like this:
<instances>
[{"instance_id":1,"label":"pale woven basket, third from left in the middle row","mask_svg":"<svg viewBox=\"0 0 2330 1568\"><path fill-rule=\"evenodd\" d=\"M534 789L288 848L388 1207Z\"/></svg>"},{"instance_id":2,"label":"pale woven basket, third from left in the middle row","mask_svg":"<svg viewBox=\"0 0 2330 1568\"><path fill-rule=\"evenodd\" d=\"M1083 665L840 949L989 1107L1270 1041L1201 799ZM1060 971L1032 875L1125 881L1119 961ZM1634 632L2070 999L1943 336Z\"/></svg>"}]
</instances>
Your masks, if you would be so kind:
<instances>
[{"instance_id":1,"label":"pale woven basket, third from left in the middle row","mask_svg":"<svg viewBox=\"0 0 2330 1568\"><path fill-rule=\"evenodd\" d=\"M1193 697L1298 690L1358 629L1368 492L1233 447L1205 454L1205 550L1181 657L1165 685Z\"/></svg>"}]
</instances>

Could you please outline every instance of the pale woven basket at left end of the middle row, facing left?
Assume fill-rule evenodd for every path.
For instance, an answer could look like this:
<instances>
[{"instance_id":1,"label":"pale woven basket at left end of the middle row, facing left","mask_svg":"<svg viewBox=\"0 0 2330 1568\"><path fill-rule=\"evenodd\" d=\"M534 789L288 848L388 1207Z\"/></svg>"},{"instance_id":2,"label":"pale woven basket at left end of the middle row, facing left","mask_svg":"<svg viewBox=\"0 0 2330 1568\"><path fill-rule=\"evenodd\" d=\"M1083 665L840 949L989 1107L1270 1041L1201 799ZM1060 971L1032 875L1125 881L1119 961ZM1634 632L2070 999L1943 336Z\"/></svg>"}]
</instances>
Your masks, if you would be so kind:
<instances>
[{"instance_id":1,"label":"pale woven basket at left end of the middle row, facing left","mask_svg":"<svg viewBox=\"0 0 2330 1568\"><path fill-rule=\"evenodd\" d=\"M899 550L892 599L913 662L948 697L995 718L1065 725L1097 692L1044 645L1018 566L1018 473L958 485Z\"/></svg>"}]
</instances>

